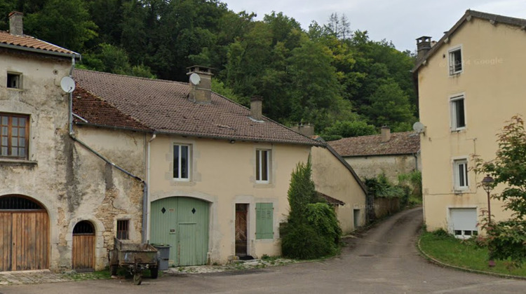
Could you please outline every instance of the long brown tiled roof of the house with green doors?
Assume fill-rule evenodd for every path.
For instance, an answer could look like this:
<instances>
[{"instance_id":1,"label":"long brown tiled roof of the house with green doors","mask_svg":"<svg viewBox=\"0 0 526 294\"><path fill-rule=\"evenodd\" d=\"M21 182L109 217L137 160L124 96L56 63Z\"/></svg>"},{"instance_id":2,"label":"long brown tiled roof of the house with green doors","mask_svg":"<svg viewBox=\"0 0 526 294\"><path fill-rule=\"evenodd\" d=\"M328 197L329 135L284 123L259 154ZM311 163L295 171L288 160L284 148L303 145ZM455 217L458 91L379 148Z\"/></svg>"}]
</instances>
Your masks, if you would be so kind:
<instances>
[{"instance_id":1,"label":"long brown tiled roof of the house with green doors","mask_svg":"<svg viewBox=\"0 0 526 294\"><path fill-rule=\"evenodd\" d=\"M75 69L74 97L83 92L106 102L79 103L75 113L95 125L114 126L112 119L95 116L97 107L112 106L129 120L119 119L120 127L137 128L137 124L154 132L194 137L268 141L287 144L324 144L290 130L268 118L260 123L250 118L250 110L212 93L210 104L196 104L188 97L189 84L170 80L152 80L112 73ZM81 123L81 122L78 122Z\"/></svg>"}]
</instances>

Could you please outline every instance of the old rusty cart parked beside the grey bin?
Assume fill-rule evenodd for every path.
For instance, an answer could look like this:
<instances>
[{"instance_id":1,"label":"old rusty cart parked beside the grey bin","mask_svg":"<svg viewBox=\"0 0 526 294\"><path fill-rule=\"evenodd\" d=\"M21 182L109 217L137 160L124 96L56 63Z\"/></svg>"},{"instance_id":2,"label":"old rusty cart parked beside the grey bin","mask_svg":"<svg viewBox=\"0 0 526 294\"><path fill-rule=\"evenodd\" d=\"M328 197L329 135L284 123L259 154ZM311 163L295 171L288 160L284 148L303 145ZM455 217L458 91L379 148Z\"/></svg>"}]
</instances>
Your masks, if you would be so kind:
<instances>
[{"instance_id":1,"label":"old rusty cart parked beside the grey bin","mask_svg":"<svg viewBox=\"0 0 526 294\"><path fill-rule=\"evenodd\" d=\"M112 276L117 274L117 268L127 268L133 276L133 283L142 283L142 271L149 269L151 279L159 276L159 261L157 249L150 244L128 243L114 238L114 249L108 253L109 269Z\"/></svg>"}]
</instances>

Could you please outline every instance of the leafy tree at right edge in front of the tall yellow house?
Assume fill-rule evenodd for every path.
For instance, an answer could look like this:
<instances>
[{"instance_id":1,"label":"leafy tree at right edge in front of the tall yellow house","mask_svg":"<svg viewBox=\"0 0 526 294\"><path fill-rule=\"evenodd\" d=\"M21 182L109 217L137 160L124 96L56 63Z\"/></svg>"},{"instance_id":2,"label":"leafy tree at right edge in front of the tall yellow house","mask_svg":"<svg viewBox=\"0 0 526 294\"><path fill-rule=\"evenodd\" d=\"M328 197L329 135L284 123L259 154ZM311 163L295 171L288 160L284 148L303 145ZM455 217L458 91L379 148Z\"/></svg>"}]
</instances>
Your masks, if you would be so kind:
<instances>
[{"instance_id":1,"label":"leafy tree at right edge in front of the tall yellow house","mask_svg":"<svg viewBox=\"0 0 526 294\"><path fill-rule=\"evenodd\" d=\"M483 221L486 230L490 260L508 260L520 266L526 261L526 131L521 116L513 116L497 135L496 158L485 162L475 155L473 168L478 174L493 177L492 188L504 184L501 193L492 197L504 201L504 209L513 211L507 221L488 223Z\"/></svg>"}]
</instances>

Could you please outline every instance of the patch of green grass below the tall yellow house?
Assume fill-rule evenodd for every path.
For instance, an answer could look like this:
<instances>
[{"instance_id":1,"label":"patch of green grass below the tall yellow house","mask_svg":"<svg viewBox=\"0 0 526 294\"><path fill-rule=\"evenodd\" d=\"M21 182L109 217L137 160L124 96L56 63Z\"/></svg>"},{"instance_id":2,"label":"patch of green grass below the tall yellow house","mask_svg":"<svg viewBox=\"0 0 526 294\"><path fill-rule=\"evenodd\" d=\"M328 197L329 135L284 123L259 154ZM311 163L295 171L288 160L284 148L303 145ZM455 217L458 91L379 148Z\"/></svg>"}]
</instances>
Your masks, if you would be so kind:
<instances>
[{"instance_id":1,"label":"patch of green grass below the tall yellow house","mask_svg":"<svg viewBox=\"0 0 526 294\"><path fill-rule=\"evenodd\" d=\"M488 267L487 248L479 246L474 239L461 240L445 232L423 232L420 247L427 255L466 269L476 269L497 274L526 276L526 267L510 268L510 262L495 260L495 267Z\"/></svg>"}]
</instances>

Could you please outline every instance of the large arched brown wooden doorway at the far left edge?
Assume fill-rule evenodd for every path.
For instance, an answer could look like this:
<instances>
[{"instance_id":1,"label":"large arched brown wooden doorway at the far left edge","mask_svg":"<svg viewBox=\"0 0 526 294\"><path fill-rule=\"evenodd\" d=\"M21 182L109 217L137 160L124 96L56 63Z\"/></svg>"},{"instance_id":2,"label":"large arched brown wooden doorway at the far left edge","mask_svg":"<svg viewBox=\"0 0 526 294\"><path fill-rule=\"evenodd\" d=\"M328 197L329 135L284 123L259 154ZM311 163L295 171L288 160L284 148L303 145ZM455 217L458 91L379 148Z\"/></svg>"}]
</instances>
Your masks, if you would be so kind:
<instances>
[{"instance_id":1,"label":"large arched brown wooden doorway at the far left edge","mask_svg":"<svg viewBox=\"0 0 526 294\"><path fill-rule=\"evenodd\" d=\"M22 195L0 197L0 272L49 268L49 217Z\"/></svg>"}]
</instances>

